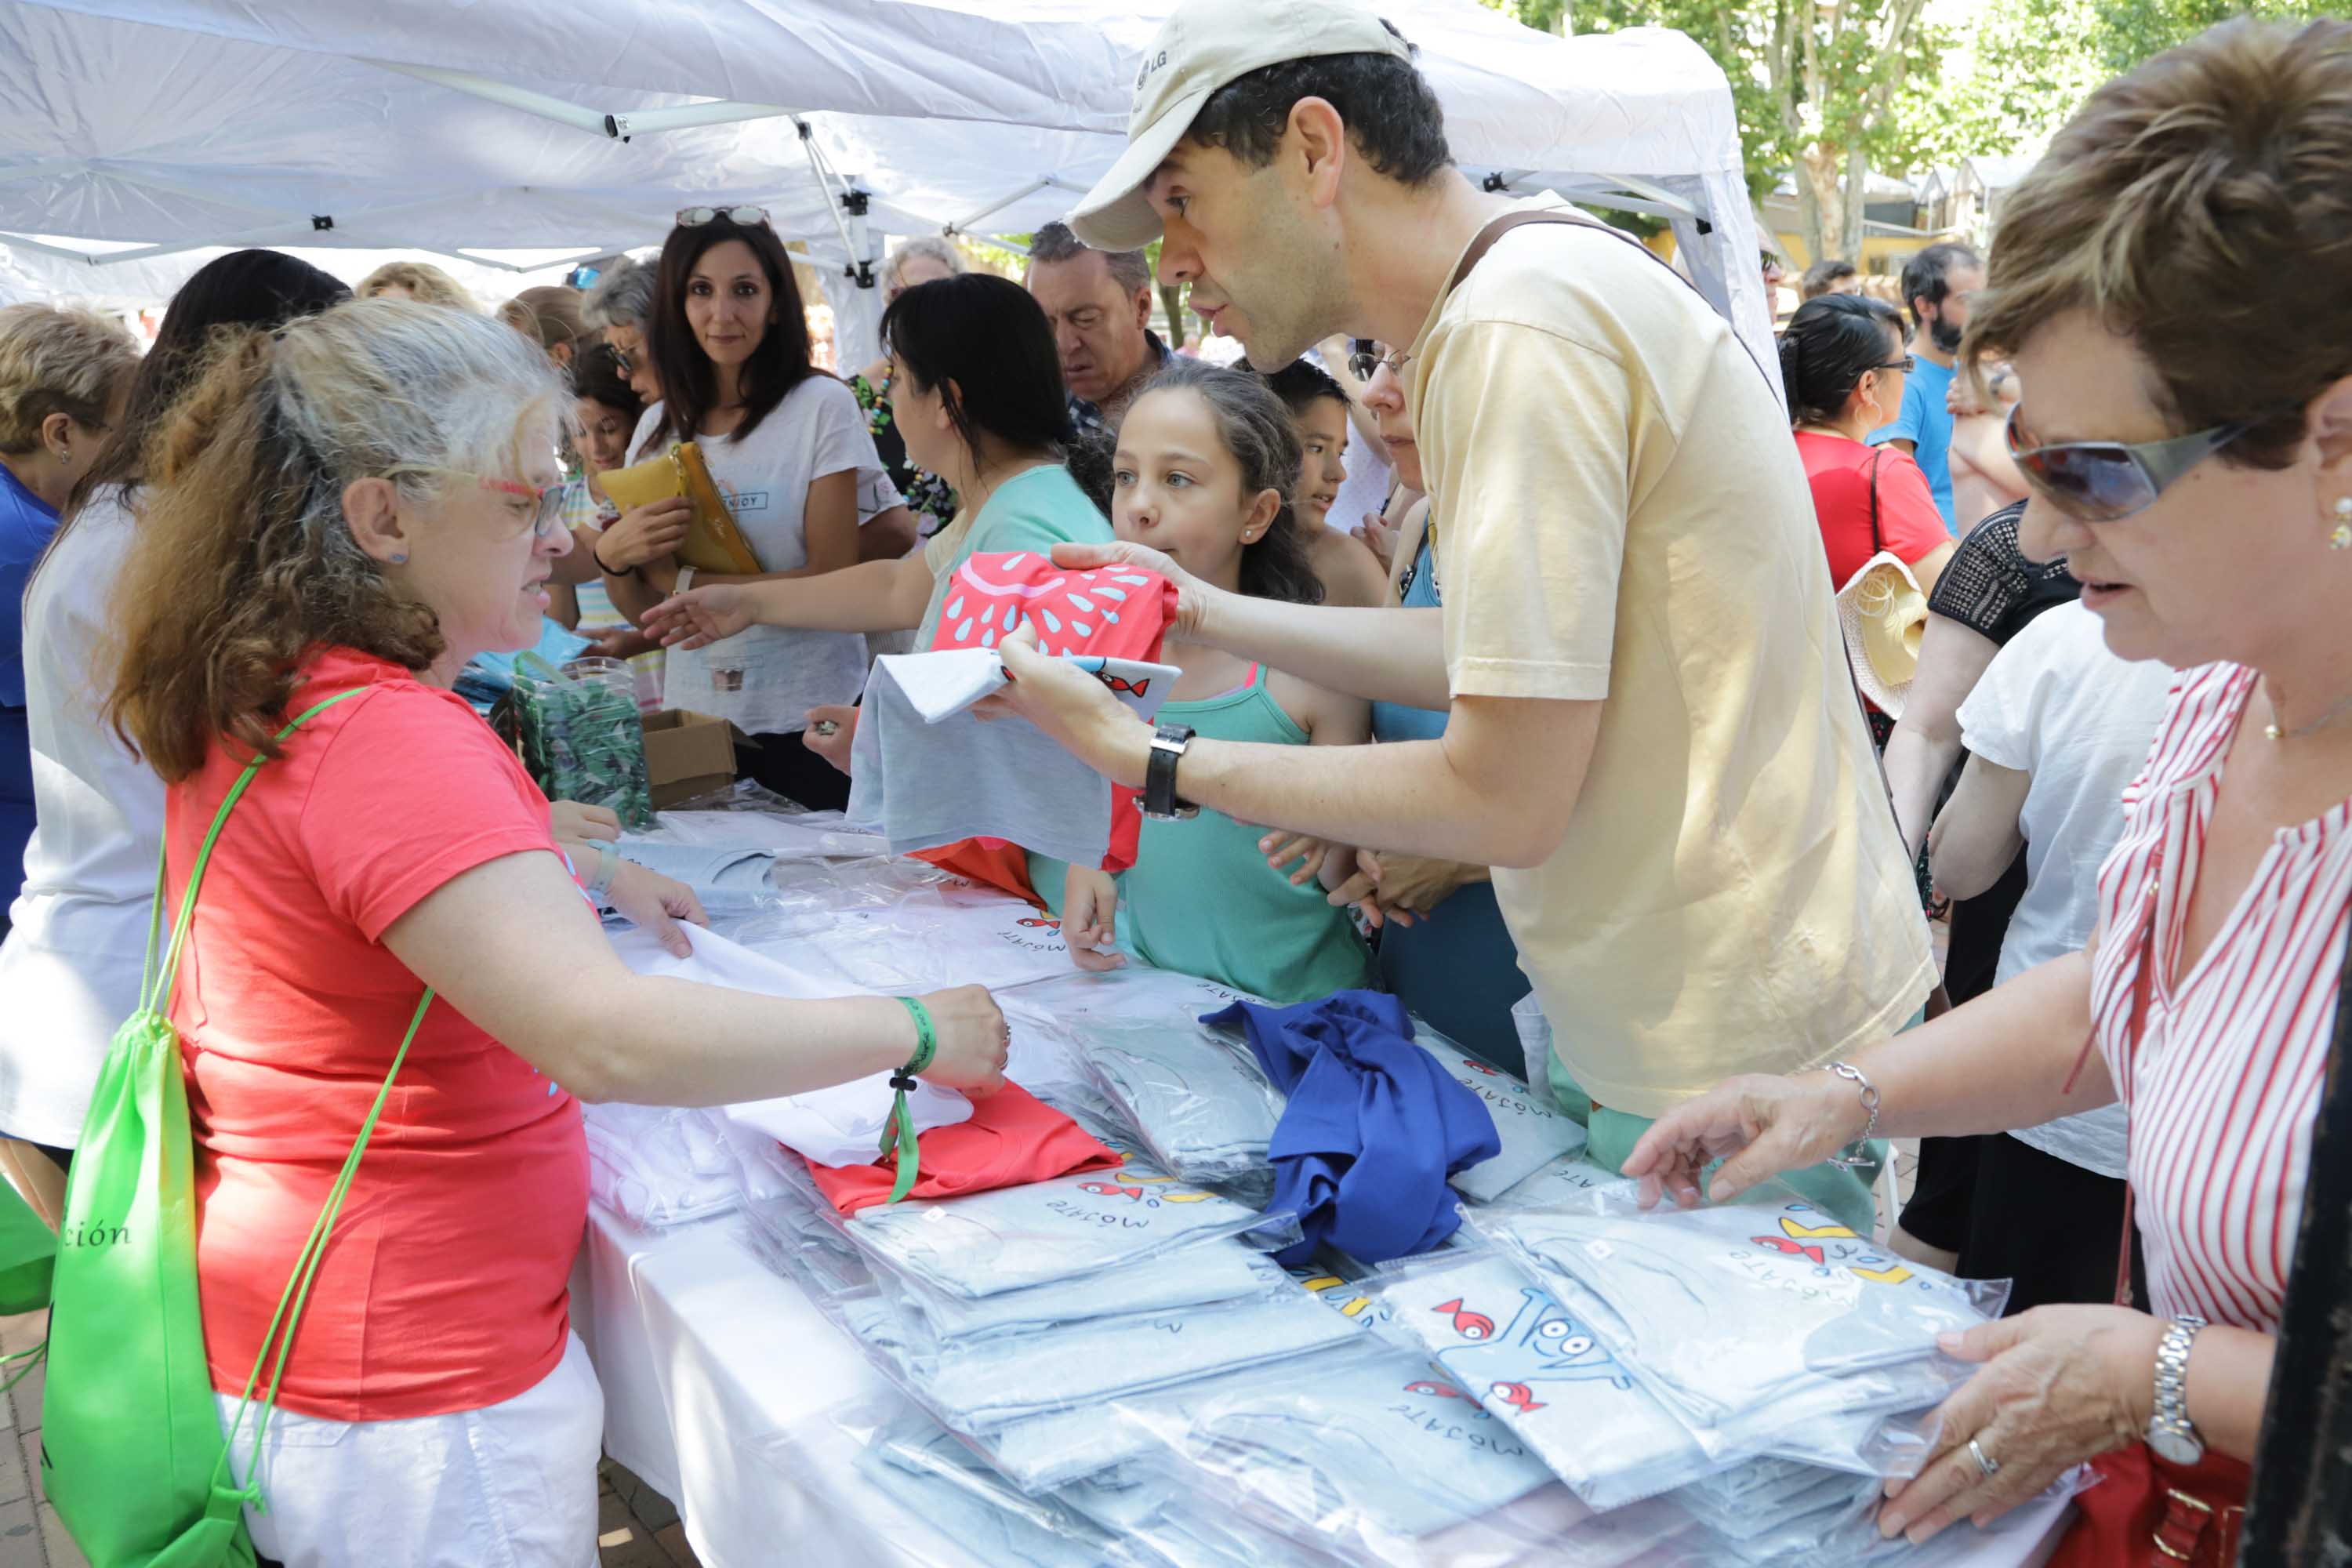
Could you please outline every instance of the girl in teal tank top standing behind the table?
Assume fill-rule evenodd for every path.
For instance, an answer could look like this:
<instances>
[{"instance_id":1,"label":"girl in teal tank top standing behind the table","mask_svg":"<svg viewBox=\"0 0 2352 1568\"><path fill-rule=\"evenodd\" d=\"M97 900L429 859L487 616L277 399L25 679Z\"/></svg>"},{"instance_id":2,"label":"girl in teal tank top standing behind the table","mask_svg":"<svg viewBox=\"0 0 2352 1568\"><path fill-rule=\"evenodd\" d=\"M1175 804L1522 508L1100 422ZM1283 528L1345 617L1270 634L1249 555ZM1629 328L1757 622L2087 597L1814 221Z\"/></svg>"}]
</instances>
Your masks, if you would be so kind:
<instances>
[{"instance_id":1,"label":"girl in teal tank top standing behind the table","mask_svg":"<svg viewBox=\"0 0 2352 1568\"><path fill-rule=\"evenodd\" d=\"M1289 409L1263 381L1171 360L1120 425L1112 531L1218 588L1312 604L1322 585L1289 505L1298 465ZM1202 736L1265 745L1371 738L1369 705L1357 698L1195 644L1169 642L1162 661L1183 677L1160 717ZM1327 903L1355 865L1352 849L1315 844L1305 865L1275 870L1263 839L1263 830L1214 811L1178 823L1145 818L1136 865L1122 877L1065 872L1070 957L1082 969L1115 966L1124 959L1094 947L1124 938L1157 969L1270 1001L1371 985L1348 910Z\"/></svg>"}]
</instances>

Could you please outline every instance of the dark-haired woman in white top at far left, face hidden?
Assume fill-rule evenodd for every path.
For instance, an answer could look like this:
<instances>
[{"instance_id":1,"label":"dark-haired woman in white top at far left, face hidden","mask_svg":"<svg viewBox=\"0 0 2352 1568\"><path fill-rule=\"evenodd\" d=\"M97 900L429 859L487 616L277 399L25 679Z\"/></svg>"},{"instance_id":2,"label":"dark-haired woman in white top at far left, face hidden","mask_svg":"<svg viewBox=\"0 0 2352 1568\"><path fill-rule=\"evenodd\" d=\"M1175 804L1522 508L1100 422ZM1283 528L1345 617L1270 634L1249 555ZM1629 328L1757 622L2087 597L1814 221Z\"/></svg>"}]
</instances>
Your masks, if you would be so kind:
<instances>
[{"instance_id":1,"label":"dark-haired woman in white top at far left, face hidden","mask_svg":"<svg viewBox=\"0 0 2352 1568\"><path fill-rule=\"evenodd\" d=\"M24 856L14 933L0 947L0 1131L59 1164L115 1027L139 1006L162 837L162 783L99 717L115 576L136 545L148 437L223 327L278 327L350 299L278 252L205 263L162 317L125 411L66 501L66 522L24 597L24 696L40 825Z\"/></svg>"}]
</instances>

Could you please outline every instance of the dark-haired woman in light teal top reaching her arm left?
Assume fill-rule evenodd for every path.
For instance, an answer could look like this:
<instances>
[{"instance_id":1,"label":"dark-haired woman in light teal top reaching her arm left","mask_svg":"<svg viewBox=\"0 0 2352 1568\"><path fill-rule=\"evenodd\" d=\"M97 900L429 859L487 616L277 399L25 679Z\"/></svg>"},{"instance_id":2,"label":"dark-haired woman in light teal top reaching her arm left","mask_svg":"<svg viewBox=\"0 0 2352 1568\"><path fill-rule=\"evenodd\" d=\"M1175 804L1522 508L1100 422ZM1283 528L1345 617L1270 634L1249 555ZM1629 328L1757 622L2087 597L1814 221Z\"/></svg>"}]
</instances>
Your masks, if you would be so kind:
<instances>
[{"instance_id":1,"label":"dark-haired woman in light teal top reaching her arm left","mask_svg":"<svg viewBox=\"0 0 2352 1568\"><path fill-rule=\"evenodd\" d=\"M924 649L938 628L948 578L967 555L1110 541L1110 524L1063 468L1070 400L1054 329L1028 289L988 273L917 284L882 313L882 343L908 458L962 498L955 522L934 534L920 557L866 562L823 583L680 592L644 616L644 630L663 637L673 658L760 625L920 628L915 646ZM837 726L826 752L847 759L854 712L811 719Z\"/></svg>"}]
</instances>

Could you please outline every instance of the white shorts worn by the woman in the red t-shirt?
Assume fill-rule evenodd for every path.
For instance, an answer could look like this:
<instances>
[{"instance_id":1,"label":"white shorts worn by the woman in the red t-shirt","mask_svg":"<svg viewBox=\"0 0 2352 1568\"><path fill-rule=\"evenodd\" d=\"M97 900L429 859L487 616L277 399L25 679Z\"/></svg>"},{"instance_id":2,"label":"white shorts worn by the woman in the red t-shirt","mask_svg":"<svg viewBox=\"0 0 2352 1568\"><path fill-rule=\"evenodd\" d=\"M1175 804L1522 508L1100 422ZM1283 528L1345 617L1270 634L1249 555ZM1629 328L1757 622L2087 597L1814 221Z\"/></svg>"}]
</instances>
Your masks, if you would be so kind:
<instances>
[{"instance_id":1,"label":"white shorts worn by the woman in the red t-shirt","mask_svg":"<svg viewBox=\"0 0 2352 1568\"><path fill-rule=\"evenodd\" d=\"M238 1418L214 1394L221 1429ZM254 1455L254 1415L233 1474ZM320 1420L275 1410L261 1458L268 1512L245 1509L287 1568L595 1568L604 1389L579 1335L536 1387L485 1410Z\"/></svg>"}]
</instances>

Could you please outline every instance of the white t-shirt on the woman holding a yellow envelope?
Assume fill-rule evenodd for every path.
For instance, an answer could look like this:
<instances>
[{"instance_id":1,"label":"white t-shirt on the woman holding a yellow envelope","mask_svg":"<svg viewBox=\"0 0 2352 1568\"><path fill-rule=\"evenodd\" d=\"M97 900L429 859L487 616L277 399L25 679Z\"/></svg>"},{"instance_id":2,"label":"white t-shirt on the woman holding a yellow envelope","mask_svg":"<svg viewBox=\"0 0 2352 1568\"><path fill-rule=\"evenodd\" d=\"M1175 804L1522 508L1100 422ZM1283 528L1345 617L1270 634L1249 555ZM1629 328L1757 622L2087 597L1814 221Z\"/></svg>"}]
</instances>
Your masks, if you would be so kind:
<instances>
[{"instance_id":1,"label":"white t-shirt on the woman holding a yellow envelope","mask_svg":"<svg viewBox=\"0 0 2352 1568\"><path fill-rule=\"evenodd\" d=\"M637 421L630 451L640 458L661 414L656 402ZM809 564L809 484L826 475L856 470L861 524L898 505L856 395L833 376L816 374L795 386L750 435L694 440L762 571ZM720 689L713 670L741 670L741 686ZM856 632L755 625L691 654L670 649L661 703L731 719L753 736L774 736L807 729L811 708L854 703L863 686L866 639Z\"/></svg>"}]
</instances>

